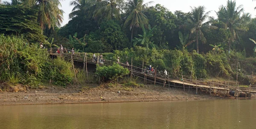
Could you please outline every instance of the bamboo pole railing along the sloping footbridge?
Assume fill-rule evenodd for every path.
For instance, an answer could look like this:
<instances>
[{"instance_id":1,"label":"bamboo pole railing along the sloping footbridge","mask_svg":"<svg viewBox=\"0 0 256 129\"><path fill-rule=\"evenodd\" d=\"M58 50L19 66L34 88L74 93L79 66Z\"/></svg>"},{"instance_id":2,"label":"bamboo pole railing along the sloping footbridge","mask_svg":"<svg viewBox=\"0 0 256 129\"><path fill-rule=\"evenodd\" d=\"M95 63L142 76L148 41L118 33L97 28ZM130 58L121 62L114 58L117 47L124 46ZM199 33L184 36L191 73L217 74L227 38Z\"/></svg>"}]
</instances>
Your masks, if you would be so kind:
<instances>
[{"instance_id":1,"label":"bamboo pole railing along the sloping footbridge","mask_svg":"<svg viewBox=\"0 0 256 129\"><path fill-rule=\"evenodd\" d=\"M48 49L48 52L51 54L55 54L57 56L63 56L65 59L71 60L71 53L72 50L66 49L68 51L68 53L56 53L58 51L58 48L51 48ZM77 62L85 62L85 53L79 53L76 52L73 55L73 60L77 61ZM87 63L95 63L93 62L93 57L92 55L86 55L86 61ZM100 64L100 65L112 65L113 63L118 63L118 62L114 62L111 60L107 60L105 59L104 64ZM156 73L152 73L149 70L146 70L145 68L141 68L141 67L136 67L136 66L132 66L132 65L127 65L124 63L118 63L119 65L121 65L122 67L126 67L128 68L128 70L132 71L134 74L139 74L139 75L147 75L147 76L151 76L154 77L156 76L158 79L162 79L162 80L168 80L168 79L177 79L176 77L169 75L165 76L165 74L163 73L163 71L156 71ZM190 84L198 84L198 85L209 85L211 87L226 87L227 89L236 89L237 84L233 83L233 82L226 82L226 81L218 81L216 79L197 79L197 80L192 80L192 79L184 79L183 81L186 83L190 83ZM240 85L241 86L241 85ZM239 90L244 90L247 91L248 87L244 86L244 87L239 87ZM251 90L256 90L256 87L251 87Z\"/></svg>"}]
</instances>

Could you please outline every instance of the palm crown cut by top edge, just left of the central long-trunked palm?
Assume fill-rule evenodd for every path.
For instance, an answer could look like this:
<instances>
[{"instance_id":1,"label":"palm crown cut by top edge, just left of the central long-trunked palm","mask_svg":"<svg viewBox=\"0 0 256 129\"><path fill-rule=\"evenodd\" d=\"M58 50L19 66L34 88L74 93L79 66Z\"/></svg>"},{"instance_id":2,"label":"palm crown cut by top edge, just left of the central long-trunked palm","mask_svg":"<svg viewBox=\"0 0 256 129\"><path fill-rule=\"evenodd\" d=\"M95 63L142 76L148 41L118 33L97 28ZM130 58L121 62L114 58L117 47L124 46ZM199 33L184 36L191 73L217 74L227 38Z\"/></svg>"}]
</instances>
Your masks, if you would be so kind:
<instances>
[{"instance_id":1,"label":"palm crown cut by top edge, just left of the central long-trunked palm","mask_svg":"<svg viewBox=\"0 0 256 129\"><path fill-rule=\"evenodd\" d=\"M124 3L124 0L101 0L98 2L99 7L94 11L93 17L95 20L119 19Z\"/></svg>"}]
</instances>

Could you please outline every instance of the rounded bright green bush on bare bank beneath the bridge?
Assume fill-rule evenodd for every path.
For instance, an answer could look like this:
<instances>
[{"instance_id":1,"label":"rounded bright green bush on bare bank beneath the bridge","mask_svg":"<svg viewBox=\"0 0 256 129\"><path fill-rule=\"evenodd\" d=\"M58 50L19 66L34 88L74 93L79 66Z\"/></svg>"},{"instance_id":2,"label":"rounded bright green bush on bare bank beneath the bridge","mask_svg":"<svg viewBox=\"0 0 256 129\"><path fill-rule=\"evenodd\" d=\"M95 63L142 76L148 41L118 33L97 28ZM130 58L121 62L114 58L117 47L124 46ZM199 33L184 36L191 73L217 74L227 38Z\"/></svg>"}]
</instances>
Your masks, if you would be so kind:
<instances>
[{"instance_id":1,"label":"rounded bright green bush on bare bank beneath the bridge","mask_svg":"<svg viewBox=\"0 0 256 129\"><path fill-rule=\"evenodd\" d=\"M114 63L112 66L97 66L96 75L100 77L102 81L112 81L119 77L129 74L129 70Z\"/></svg>"}]
</instances>

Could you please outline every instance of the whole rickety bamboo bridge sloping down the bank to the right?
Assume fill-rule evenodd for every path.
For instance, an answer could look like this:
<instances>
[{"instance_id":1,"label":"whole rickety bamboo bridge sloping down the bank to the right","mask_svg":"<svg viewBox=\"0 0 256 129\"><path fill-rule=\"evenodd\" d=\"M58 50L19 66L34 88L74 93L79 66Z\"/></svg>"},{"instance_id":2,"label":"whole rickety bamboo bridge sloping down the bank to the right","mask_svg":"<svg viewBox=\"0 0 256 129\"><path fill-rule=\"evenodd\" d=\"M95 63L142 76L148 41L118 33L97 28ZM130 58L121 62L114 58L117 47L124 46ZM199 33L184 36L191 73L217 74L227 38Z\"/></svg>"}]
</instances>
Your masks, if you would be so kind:
<instances>
[{"instance_id":1,"label":"whole rickety bamboo bridge sloping down the bank to the right","mask_svg":"<svg viewBox=\"0 0 256 129\"><path fill-rule=\"evenodd\" d=\"M82 62L84 63L84 69L86 67L87 70L87 63L89 64L99 64L99 66L105 65L112 65L113 63L117 63L111 60L107 60L105 59L104 63L99 63L99 55L98 55L98 60L95 61L92 57L92 55L87 55L87 53L78 53L76 52L73 56L72 56L72 50L67 49L67 53L61 52L61 50L59 50L60 53L57 52L58 48L50 48L48 49L48 53L50 53L50 55L52 56L61 56L66 60L70 60L70 61L76 61L76 62ZM235 91L235 95L236 97L239 97L239 94L241 92L245 92L245 93L241 93L241 94L245 94L245 96L249 96L250 98L250 93L256 93L256 86L253 85L241 85L239 86L239 84L235 84L232 82L226 82L226 81L218 81L216 79L196 79L196 80L192 80L192 79L185 79L182 77L182 79L177 79L175 77L172 77L171 75L165 75L163 73L163 71L157 71L157 69L155 70L154 73L149 72L148 70L146 70L145 68L141 68L141 67L136 67L132 65L132 59L131 59L131 65L127 65L127 64L123 64L123 63L118 63L119 65L121 65L122 67L126 67L128 68L128 70L131 73L131 78L133 77L138 77L141 79L144 79L144 84L147 84L147 81L151 81L154 84L163 84L163 87L182 87L185 91L185 88L189 88L190 89L195 89L196 94L198 93L198 88L200 88L201 90L205 90L209 93L209 95L212 94L212 92L214 90L217 90L219 92L219 90L223 90L224 94L228 94L228 91Z\"/></svg>"}]
</instances>

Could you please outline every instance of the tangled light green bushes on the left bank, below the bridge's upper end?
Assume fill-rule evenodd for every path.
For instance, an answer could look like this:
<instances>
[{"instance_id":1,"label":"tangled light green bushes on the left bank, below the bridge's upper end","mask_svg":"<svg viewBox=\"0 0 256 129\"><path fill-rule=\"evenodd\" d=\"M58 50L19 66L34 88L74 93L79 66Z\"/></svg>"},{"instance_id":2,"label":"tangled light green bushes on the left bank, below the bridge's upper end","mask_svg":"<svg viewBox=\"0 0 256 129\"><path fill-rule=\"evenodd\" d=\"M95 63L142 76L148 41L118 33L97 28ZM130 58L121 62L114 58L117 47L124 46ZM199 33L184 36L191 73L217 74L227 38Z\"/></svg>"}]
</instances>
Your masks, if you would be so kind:
<instances>
[{"instance_id":1,"label":"tangled light green bushes on the left bank, below the bridge's upper end","mask_svg":"<svg viewBox=\"0 0 256 129\"><path fill-rule=\"evenodd\" d=\"M28 44L22 37L0 35L0 81L17 79L18 83L37 87L51 79L54 84L66 85L73 79L71 64L49 58L46 49Z\"/></svg>"}]
</instances>

